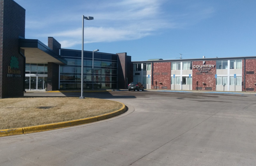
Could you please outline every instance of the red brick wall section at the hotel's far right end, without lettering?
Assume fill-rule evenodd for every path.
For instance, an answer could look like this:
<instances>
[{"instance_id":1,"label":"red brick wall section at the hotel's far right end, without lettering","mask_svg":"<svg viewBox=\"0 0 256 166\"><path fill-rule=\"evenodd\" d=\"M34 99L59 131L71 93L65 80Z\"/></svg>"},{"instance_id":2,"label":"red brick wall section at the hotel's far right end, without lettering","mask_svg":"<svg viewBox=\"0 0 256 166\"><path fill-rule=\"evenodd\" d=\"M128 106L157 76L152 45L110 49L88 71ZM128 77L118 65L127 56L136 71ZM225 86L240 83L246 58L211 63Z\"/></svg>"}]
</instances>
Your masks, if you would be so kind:
<instances>
[{"instance_id":1,"label":"red brick wall section at the hotel's far right end, without lettering","mask_svg":"<svg viewBox=\"0 0 256 166\"><path fill-rule=\"evenodd\" d=\"M242 69L244 69L244 60L242 61ZM244 80L244 70L243 70L243 82L245 83L245 89L243 86L243 90L246 91L254 91L256 92L256 59L246 59L245 60L245 80ZM249 89L250 90L249 90ZM252 90L253 88L253 90Z\"/></svg>"}]
</instances>

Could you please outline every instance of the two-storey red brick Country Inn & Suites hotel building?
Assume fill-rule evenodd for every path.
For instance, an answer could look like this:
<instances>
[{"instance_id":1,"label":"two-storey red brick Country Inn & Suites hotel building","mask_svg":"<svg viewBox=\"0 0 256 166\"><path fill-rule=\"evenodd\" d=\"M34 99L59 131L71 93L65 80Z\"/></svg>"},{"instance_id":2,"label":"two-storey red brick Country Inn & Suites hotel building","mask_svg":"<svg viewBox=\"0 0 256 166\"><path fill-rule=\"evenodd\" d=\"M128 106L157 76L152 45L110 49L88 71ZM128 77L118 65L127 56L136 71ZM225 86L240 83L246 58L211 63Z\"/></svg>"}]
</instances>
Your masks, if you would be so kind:
<instances>
[{"instance_id":1,"label":"two-storey red brick Country Inn & Suites hotel building","mask_svg":"<svg viewBox=\"0 0 256 166\"><path fill-rule=\"evenodd\" d=\"M133 81L142 82L147 89L256 92L256 57L132 63Z\"/></svg>"}]
</instances>

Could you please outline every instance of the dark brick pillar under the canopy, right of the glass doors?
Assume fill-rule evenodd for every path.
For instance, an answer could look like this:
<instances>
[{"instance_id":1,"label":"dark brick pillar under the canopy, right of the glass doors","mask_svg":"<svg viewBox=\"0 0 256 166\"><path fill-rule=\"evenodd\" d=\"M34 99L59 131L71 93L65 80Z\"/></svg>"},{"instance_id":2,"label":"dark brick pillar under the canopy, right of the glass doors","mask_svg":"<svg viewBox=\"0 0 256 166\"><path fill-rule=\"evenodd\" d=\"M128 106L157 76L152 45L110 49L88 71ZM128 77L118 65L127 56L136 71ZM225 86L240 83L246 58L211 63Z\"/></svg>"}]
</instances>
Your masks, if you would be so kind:
<instances>
[{"instance_id":1,"label":"dark brick pillar under the canopy, right of the glass doors","mask_svg":"<svg viewBox=\"0 0 256 166\"><path fill-rule=\"evenodd\" d=\"M59 87L59 65L48 62L47 91L58 90Z\"/></svg>"}]
</instances>

